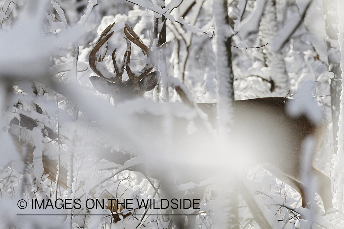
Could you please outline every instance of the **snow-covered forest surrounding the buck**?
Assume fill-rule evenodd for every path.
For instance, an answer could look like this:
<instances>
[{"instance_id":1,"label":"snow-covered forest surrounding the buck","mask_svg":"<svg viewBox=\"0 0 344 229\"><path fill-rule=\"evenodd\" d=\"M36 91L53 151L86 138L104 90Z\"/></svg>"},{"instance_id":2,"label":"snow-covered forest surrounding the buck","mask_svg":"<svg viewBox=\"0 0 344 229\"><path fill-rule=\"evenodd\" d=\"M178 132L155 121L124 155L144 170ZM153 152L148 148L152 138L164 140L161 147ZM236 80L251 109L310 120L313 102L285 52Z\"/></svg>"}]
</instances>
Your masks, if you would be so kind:
<instances>
[{"instance_id":1,"label":"snow-covered forest surrounding the buck","mask_svg":"<svg viewBox=\"0 0 344 229\"><path fill-rule=\"evenodd\" d=\"M178 220L172 216L144 216L171 214L168 210L137 209L135 213L142 216L136 217L132 216L134 211L127 215L123 210L120 216L104 217L77 214L111 214L121 209L30 211L19 209L17 203L24 199L31 206L32 198L182 198L197 186L205 188L197 227L218 227L216 214L222 211L218 204L221 194L216 195L210 175L204 176L201 183L176 179L182 171L176 161L192 168L195 165L190 160L200 156L174 151L168 130L174 116L188 120L195 117L193 110L180 103L176 86L185 84L195 102L218 101L213 4L221 2L0 1L1 228L178 227ZM272 228L344 227L344 122L340 118L344 14L338 12L344 12L344 3L336 0L228 1L234 31L235 100L293 98L303 83L312 82L313 96L329 119L324 146L314 164L332 180L334 208L324 213L317 196L311 209L312 224L300 219L300 195L290 186L260 166L247 172L245 184ZM156 49L159 60L155 69L161 72L158 87L146 92L146 99L116 107L110 95L100 94L90 83L89 77L94 73L88 64L88 55L101 32L114 22L111 31L115 32L104 58L108 69L114 70L112 50L117 48L118 60L125 53L123 28L128 24L147 46ZM132 48L131 67L141 69L146 58L138 47ZM105 48L99 53L104 56ZM150 116L141 123L136 114L142 113ZM163 133L152 134L154 138L146 136L146 129L154 131L151 127L160 124ZM50 167L60 174L59 185L54 182L56 176L44 171L48 159ZM138 172L142 166L152 172ZM198 167L211 174L206 163ZM157 172L169 181L159 191L164 182L154 176ZM217 180L228 183L231 179L224 172ZM234 195L240 228L258 228L256 215L246 201L241 195ZM192 212L187 209L179 214Z\"/></svg>"}]
</instances>

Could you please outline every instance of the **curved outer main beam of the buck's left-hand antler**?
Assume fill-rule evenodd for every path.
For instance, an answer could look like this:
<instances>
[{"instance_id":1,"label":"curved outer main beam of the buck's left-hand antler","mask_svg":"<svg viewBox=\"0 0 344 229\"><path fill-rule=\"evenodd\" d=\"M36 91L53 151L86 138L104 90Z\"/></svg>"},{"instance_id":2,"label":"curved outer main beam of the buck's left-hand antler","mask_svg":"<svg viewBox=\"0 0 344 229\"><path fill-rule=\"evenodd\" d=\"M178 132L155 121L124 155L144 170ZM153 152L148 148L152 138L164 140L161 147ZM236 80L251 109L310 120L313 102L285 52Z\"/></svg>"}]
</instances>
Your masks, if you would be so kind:
<instances>
[{"instance_id":1,"label":"curved outer main beam of the buck's left-hand antler","mask_svg":"<svg viewBox=\"0 0 344 229\"><path fill-rule=\"evenodd\" d=\"M89 63L90 68L92 69L92 71L94 71L99 77L106 79L106 80L110 80L110 81L111 81L111 78L104 77L103 74L100 72L100 70L97 69L96 62L101 62L100 58L99 58L99 60L97 60L98 59L98 55L97 55L98 50L100 49L101 46L103 46L107 42L107 40L112 36L112 34L114 34L114 31L107 34L114 25L115 25L115 23L106 27L106 29L101 33L100 38L98 39L96 45L93 47L91 53L88 56L88 63ZM117 78L117 76L115 78Z\"/></svg>"}]
</instances>

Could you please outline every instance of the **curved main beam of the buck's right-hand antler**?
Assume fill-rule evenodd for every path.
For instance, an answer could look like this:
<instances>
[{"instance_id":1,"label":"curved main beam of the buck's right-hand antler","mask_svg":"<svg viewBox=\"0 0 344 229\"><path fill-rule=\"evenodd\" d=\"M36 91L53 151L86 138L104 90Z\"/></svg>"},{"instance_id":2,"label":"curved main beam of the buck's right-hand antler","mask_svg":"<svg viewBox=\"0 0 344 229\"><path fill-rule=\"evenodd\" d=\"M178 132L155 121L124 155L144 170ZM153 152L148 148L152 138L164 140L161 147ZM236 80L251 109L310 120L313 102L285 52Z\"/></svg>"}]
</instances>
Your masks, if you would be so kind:
<instances>
[{"instance_id":1,"label":"curved main beam of the buck's right-hand antler","mask_svg":"<svg viewBox=\"0 0 344 229\"><path fill-rule=\"evenodd\" d=\"M154 67L154 54L153 52L141 41L140 37L133 31L132 27L129 27L129 25L126 24L126 27L124 27L124 34L126 37L134 44L136 44L139 48L141 48L142 52L144 55L147 55L148 59L151 61L150 63L147 63L146 66L140 71L140 74L137 76L137 80L143 79L144 76L146 76ZM128 46L128 41L127 41L127 46ZM128 61L127 65L129 66L129 59L130 59L130 54L128 54ZM127 66L127 72L128 75L131 74L134 76L135 74L128 68Z\"/></svg>"}]
</instances>

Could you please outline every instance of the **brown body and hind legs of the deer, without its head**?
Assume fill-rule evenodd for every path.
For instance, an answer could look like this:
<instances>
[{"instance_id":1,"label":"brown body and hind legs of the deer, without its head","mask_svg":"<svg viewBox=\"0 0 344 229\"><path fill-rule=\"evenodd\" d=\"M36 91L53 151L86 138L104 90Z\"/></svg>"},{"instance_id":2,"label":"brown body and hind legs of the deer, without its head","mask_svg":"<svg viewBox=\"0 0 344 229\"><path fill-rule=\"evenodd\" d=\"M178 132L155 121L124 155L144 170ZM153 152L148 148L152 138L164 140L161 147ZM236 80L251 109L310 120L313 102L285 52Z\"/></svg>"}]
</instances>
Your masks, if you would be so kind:
<instances>
[{"instance_id":1,"label":"brown body and hind legs of the deer, without its head","mask_svg":"<svg viewBox=\"0 0 344 229\"><path fill-rule=\"evenodd\" d=\"M234 122L231 140L236 153L243 154L253 164L262 164L265 169L300 193L302 207L311 200L307 197L308 187L302 181L303 144L310 136L314 137L319 149L326 131L326 122L312 123L305 115L291 117L287 112L290 99L281 97L237 100L233 102ZM198 104L210 117L216 118L215 104ZM214 121L211 120L214 123ZM325 211L332 208L331 179L311 166L316 178L317 189ZM312 197L313 198L313 197Z\"/></svg>"}]
</instances>

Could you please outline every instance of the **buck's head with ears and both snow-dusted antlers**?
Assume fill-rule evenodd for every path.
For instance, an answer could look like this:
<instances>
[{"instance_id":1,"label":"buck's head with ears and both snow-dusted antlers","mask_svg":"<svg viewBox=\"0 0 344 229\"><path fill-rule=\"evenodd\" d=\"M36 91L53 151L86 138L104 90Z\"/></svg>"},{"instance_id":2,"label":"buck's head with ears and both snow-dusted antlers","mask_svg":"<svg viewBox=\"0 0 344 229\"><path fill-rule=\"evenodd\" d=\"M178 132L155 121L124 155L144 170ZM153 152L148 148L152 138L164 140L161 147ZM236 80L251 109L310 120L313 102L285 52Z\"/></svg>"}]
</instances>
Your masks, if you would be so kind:
<instances>
[{"instance_id":1,"label":"buck's head with ears and both snow-dusted antlers","mask_svg":"<svg viewBox=\"0 0 344 229\"><path fill-rule=\"evenodd\" d=\"M140 37L133 31L132 27L126 24L124 27L124 33L127 42L127 50L124 54L121 63L116 62L116 48L112 52L112 61L114 64L115 72L111 73L108 71L106 65L103 63L106 55L108 46L106 44L106 52L104 56L98 57L98 50L103 46L107 40L111 37L114 32L109 33L112 26L115 23L106 27L101 33L99 40L92 49L88 62L89 66L98 76L91 76L89 80L92 82L93 87L101 94L111 94L115 104L135 99L143 96L144 92L152 90L157 85L159 79L159 72L154 71L149 73L154 67L154 54L152 51L141 41ZM109 33L109 34L108 34ZM141 48L143 54L147 56L147 64L144 68L139 71L132 71L130 68L130 54L131 54L131 43L136 44ZM122 75L124 69L128 73L128 80L123 81Z\"/></svg>"}]
</instances>

